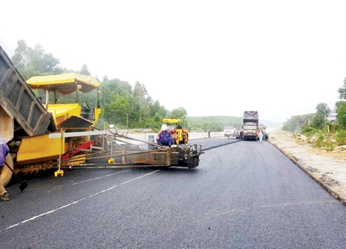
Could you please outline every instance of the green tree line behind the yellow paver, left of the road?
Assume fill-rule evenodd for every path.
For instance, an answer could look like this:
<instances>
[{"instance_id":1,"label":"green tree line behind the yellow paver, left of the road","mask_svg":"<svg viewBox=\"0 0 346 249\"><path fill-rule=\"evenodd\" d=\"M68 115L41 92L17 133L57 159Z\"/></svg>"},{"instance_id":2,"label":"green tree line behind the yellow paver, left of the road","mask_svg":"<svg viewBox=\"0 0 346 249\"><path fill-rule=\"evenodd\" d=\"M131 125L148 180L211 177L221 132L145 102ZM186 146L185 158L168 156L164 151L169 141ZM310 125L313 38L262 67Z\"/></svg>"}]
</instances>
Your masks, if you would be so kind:
<instances>
[{"instance_id":1,"label":"green tree line behind the yellow paver, left of the road","mask_svg":"<svg viewBox=\"0 0 346 249\"><path fill-rule=\"evenodd\" d=\"M46 53L44 48L37 44L34 47L28 46L21 39L17 42L15 53L11 58L24 80L33 76L57 75L62 73L80 73L82 75L92 75L88 66L83 64L80 71L60 66L60 59L52 53ZM183 107L167 110L159 100L153 100L147 92L144 84L136 82L134 87L129 82L116 79L109 79L104 75L100 80L99 90L100 105L102 114L98 122L98 128L103 129L113 124L119 129L125 128L149 128L153 131L160 129L164 118L180 119L181 125L192 131L197 129L209 131L222 131L225 125L240 126L239 118L224 117L203 117L189 118L188 112ZM37 97L45 99L45 92L33 90ZM79 93L80 101L87 102L90 107L97 104L97 92ZM49 101L54 101L53 93L49 96ZM60 103L75 102L75 95L58 95Z\"/></svg>"}]
</instances>

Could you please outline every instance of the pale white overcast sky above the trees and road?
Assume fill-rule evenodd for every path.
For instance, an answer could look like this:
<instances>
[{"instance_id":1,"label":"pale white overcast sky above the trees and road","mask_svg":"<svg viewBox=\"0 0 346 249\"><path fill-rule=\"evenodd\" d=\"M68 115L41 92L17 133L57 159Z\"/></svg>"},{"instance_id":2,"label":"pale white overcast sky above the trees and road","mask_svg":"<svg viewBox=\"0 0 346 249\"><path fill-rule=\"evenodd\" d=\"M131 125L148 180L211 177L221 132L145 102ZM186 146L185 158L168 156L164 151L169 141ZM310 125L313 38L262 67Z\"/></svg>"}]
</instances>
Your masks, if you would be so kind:
<instances>
[{"instance_id":1,"label":"pale white overcast sky above the trees and road","mask_svg":"<svg viewBox=\"0 0 346 249\"><path fill-rule=\"evenodd\" d=\"M333 109L346 1L3 1L0 46L41 44L75 71L144 84L188 116L286 121ZM106 93L103 93L106 94Z\"/></svg>"}]
</instances>

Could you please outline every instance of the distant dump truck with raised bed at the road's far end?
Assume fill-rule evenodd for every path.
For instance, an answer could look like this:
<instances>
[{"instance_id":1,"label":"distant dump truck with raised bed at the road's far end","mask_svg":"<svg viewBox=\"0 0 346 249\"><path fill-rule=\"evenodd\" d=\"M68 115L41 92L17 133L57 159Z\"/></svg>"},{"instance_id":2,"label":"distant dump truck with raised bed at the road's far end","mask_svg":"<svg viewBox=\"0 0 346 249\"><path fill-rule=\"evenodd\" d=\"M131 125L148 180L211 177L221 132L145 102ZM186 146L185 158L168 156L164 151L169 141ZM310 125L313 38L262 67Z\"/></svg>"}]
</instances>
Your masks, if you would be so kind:
<instances>
[{"instance_id":1,"label":"distant dump truck with raised bed at the road's far end","mask_svg":"<svg viewBox=\"0 0 346 249\"><path fill-rule=\"evenodd\" d=\"M257 111L244 111L243 126L242 126L242 139L243 140L258 140L258 112Z\"/></svg>"}]
</instances>

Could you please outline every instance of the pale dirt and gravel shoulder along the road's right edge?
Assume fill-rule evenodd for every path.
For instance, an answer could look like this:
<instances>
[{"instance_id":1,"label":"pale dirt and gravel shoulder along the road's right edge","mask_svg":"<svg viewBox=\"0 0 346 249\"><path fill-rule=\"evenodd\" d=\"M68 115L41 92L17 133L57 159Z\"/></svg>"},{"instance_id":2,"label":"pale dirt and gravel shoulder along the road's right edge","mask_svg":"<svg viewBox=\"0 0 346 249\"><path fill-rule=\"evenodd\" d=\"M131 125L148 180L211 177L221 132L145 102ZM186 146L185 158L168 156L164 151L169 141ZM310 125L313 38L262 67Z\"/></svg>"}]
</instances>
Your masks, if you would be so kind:
<instances>
[{"instance_id":1,"label":"pale dirt and gravel shoulder along the road's right edge","mask_svg":"<svg viewBox=\"0 0 346 249\"><path fill-rule=\"evenodd\" d=\"M315 149L308 142L293 138L291 133L281 129L271 131L268 142L346 205L346 149Z\"/></svg>"}]
</instances>

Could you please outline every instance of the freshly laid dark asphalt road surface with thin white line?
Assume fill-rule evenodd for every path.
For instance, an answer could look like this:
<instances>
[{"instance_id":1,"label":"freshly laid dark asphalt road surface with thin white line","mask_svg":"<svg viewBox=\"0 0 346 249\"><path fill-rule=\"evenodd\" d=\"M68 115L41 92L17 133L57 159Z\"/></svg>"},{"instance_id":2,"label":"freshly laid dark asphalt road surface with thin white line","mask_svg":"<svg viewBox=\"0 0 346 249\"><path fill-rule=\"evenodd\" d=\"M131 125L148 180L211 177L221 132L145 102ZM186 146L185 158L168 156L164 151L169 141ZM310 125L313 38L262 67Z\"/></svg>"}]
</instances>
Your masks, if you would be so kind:
<instances>
[{"instance_id":1,"label":"freshly laid dark asphalt road surface with thin white line","mask_svg":"<svg viewBox=\"0 0 346 249\"><path fill-rule=\"evenodd\" d=\"M345 248L346 208L269 142L203 143L196 169L71 169L6 187L0 248Z\"/></svg>"}]
</instances>

